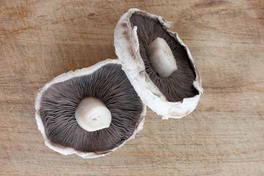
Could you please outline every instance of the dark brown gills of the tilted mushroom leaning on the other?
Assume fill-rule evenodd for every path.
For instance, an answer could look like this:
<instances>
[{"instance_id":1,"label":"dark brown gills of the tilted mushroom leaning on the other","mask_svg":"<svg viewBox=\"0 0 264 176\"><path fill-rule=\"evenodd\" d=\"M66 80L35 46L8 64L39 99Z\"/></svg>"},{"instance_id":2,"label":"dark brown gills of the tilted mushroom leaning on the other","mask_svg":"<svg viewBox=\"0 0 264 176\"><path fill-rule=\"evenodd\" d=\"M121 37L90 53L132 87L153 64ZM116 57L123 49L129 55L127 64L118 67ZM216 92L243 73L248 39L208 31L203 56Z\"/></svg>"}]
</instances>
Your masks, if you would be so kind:
<instances>
[{"instance_id":1,"label":"dark brown gills of the tilted mushroom leaning on the other","mask_svg":"<svg viewBox=\"0 0 264 176\"><path fill-rule=\"evenodd\" d=\"M140 55L146 73L165 98L169 102L179 102L184 98L198 95L199 92L193 86L196 74L184 46L171 37L157 19L142 15L140 12L132 14L130 24L132 29L137 26ZM158 37L166 41L177 62L177 70L166 78L161 78L154 72L147 53L148 46Z\"/></svg>"}]
</instances>

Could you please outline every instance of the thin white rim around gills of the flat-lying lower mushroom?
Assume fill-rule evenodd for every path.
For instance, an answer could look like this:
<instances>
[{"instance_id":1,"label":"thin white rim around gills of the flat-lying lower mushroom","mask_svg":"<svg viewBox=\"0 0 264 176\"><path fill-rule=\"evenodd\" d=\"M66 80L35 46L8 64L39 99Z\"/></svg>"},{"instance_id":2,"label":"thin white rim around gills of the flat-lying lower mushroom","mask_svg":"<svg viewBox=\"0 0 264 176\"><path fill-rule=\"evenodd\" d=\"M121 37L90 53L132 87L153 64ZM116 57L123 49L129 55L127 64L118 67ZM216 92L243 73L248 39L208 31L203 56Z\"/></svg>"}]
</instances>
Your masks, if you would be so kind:
<instances>
[{"instance_id":1,"label":"thin white rim around gills of the flat-lying lower mushroom","mask_svg":"<svg viewBox=\"0 0 264 176\"><path fill-rule=\"evenodd\" d=\"M102 66L104 66L106 64L109 64L109 63L120 64L120 62L117 59L107 59L105 61L98 62L97 64L95 64L93 66L90 66L90 67L87 67L87 68L77 69L75 71L69 71L67 73L63 73L63 74L55 77L54 79L52 79L51 81L46 83L45 86L43 86L41 89L39 89L37 97L36 97L36 100L35 100L35 109L36 109L35 118L36 118L36 121L37 121L38 130L41 132L41 134L42 134L42 136L44 138L45 144L50 149L52 149L52 150L54 150L56 152L59 152L61 154L64 154L64 155L76 154L78 156L81 156L82 158L95 158L95 157L99 157L99 156L105 156L105 155L115 151L116 149L120 148L121 146L123 146L127 141L135 138L136 133L143 129L143 124L144 124L144 121L145 121L145 117L144 116L146 115L146 106L144 104L143 104L142 112L141 112L141 115L140 115L140 121L139 121L136 129L134 130L133 134L127 140L125 140L121 145L119 145L118 147L113 148L113 149L111 149L109 151L106 151L104 153L77 151L77 150L75 150L73 148L70 148L70 147L63 147L61 145L52 143L47 138L46 133L45 133L45 128L44 128L43 122L42 122L41 117L40 117L40 112L39 112L40 111L40 103L41 103L42 94L48 89L49 86L51 86L54 83L63 82L65 80L68 80L68 79L73 78L73 77L78 77L78 76L91 74L94 71L96 71L97 69L99 69Z\"/></svg>"}]
</instances>

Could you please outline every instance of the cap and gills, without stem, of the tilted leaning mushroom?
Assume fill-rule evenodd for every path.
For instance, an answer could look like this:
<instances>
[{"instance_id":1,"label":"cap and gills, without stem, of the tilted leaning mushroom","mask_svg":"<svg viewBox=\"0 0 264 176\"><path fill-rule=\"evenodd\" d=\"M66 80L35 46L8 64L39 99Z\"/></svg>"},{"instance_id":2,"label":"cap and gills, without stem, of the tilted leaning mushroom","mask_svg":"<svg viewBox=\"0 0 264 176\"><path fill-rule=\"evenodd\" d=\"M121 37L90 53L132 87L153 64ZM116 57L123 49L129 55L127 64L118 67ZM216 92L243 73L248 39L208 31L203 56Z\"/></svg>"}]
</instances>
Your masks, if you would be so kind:
<instances>
[{"instance_id":1,"label":"cap and gills, without stem, of the tilted leaning mushroom","mask_svg":"<svg viewBox=\"0 0 264 176\"><path fill-rule=\"evenodd\" d=\"M170 24L160 16L130 9L118 21L114 35L116 54L135 91L162 119L188 115L203 92L194 59L178 34L168 30ZM178 68L166 78L149 63L148 47L157 38L165 40L177 62Z\"/></svg>"}]
</instances>

